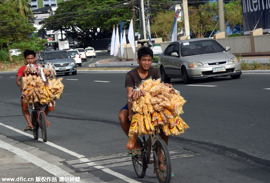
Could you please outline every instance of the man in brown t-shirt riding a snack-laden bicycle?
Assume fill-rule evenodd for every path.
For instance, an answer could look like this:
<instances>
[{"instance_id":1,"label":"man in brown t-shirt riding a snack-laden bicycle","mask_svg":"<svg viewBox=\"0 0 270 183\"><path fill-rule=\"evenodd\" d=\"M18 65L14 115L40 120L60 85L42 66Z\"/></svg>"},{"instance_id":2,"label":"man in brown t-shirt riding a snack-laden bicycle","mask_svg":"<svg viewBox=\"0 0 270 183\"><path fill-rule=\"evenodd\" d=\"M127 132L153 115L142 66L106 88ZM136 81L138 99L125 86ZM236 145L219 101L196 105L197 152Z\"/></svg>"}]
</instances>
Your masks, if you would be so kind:
<instances>
[{"instance_id":1,"label":"man in brown t-shirt riding a snack-laden bicycle","mask_svg":"<svg viewBox=\"0 0 270 183\"><path fill-rule=\"evenodd\" d=\"M153 51L148 47L142 47L138 50L138 58L137 62L139 66L130 70L126 75L125 87L127 88L127 96L129 96L134 89L134 87L138 87L142 80L152 77L152 79L160 78L160 73L158 69L151 67L151 63L153 61ZM119 112L119 120L121 122L121 126L126 135L128 135L130 121L133 116L132 111L132 103L128 102L126 106L124 106ZM166 136L163 131L161 132L161 138L168 144L168 136ZM139 143L135 143L134 149L141 149ZM137 151L129 153L135 154Z\"/></svg>"}]
</instances>

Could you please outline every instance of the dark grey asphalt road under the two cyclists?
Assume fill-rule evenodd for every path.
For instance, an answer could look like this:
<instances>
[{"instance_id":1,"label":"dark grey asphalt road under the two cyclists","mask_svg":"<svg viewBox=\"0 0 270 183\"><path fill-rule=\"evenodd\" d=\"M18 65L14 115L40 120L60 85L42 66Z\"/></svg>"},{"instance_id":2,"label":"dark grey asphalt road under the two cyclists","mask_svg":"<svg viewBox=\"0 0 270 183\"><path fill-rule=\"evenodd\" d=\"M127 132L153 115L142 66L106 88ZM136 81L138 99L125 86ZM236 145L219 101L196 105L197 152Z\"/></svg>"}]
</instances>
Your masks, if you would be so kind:
<instances>
[{"instance_id":1,"label":"dark grey asphalt road under the two cyclists","mask_svg":"<svg viewBox=\"0 0 270 183\"><path fill-rule=\"evenodd\" d=\"M15 76L0 73L0 125L22 131L26 122ZM126 156L127 137L118 120L119 109L126 103L125 73L78 72L60 77L65 85L63 97L48 116L51 144L33 140L31 132L19 133L3 125L0 134L35 148L26 151L44 161L50 157L61 162L85 182L158 182L153 165L144 179L138 179ZM269 80L270 74L242 74L235 80L213 78L189 85L171 80L187 100L182 118L190 126L184 134L170 137L175 174L171 182L269 182ZM78 159L80 155L86 158Z\"/></svg>"}]
</instances>

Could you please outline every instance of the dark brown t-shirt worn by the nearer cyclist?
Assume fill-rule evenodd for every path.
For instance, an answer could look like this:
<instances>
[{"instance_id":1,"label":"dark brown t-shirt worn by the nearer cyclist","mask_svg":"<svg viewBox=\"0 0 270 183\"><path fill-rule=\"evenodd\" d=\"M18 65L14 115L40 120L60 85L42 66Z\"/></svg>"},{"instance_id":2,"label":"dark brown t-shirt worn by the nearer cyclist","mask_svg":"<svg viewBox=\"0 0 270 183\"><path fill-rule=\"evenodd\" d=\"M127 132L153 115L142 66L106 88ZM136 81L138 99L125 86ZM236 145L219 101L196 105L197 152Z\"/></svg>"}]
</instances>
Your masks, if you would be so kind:
<instances>
[{"instance_id":1,"label":"dark brown t-shirt worn by the nearer cyclist","mask_svg":"<svg viewBox=\"0 0 270 183\"><path fill-rule=\"evenodd\" d=\"M141 78L139 73L138 73L138 67L131 69L127 75L126 75L126 82L125 82L125 87L139 87L140 83L142 80L148 79L152 76L152 79L158 79L160 78L160 74L158 69L150 67L148 69L148 75L146 78Z\"/></svg>"}]
</instances>

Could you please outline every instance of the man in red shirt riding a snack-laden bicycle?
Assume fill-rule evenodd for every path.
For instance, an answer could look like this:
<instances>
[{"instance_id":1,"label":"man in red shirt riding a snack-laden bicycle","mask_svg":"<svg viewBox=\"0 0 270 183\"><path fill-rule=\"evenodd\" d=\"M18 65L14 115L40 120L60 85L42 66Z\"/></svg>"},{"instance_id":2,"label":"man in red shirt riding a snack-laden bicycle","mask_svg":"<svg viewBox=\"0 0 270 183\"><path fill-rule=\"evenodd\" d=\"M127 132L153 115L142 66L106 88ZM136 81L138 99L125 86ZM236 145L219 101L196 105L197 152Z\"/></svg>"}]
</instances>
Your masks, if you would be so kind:
<instances>
[{"instance_id":1,"label":"man in red shirt riding a snack-laden bicycle","mask_svg":"<svg viewBox=\"0 0 270 183\"><path fill-rule=\"evenodd\" d=\"M37 65L34 63L35 62L35 52L33 50L27 49L23 52L23 55L24 55L24 60L26 61L26 64L19 68L19 70L17 72L17 79L16 79L16 84L20 87L21 92L22 92L21 79L22 79L22 77L25 76L24 69L26 68L26 65L27 64ZM28 126L26 128L24 128L24 131L28 131L28 130L33 131L34 127L32 125L31 119L30 119L30 113L28 110L23 110L23 97L21 97L21 107L22 107L22 114L24 115L24 117L28 123ZM47 105L45 108L46 116L48 113L49 113L49 107ZM50 126L50 122L47 119L46 119L46 124L47 124L47 126Z\"/></svg>"}]
</instances>

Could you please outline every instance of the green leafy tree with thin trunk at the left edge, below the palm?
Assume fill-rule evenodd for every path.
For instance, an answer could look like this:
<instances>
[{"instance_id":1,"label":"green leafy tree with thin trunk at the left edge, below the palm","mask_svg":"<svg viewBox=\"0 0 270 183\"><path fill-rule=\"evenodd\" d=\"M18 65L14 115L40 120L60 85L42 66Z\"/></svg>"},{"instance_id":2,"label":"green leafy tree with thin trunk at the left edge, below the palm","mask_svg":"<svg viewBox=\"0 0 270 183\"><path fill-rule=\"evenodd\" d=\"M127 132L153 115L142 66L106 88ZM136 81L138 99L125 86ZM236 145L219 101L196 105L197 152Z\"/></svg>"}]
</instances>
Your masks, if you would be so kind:
<instances>
[{"instance_id":1,"label":"green leafy tree with thin trunk at the left edge, below the palm","mask_svg":"<svg viewBox=\"0 0 270 183\"><path fill-rule=\"evenodd\" d=\"M13 62L10 54L11 44L29 40L35 27L23 19L12 2L0 4L0 14L0 44L1 47L7 46L10 62Z\"/></svg>"}]
</instances>

